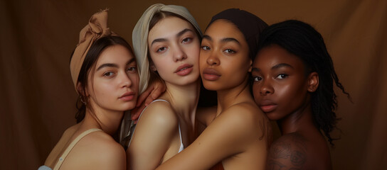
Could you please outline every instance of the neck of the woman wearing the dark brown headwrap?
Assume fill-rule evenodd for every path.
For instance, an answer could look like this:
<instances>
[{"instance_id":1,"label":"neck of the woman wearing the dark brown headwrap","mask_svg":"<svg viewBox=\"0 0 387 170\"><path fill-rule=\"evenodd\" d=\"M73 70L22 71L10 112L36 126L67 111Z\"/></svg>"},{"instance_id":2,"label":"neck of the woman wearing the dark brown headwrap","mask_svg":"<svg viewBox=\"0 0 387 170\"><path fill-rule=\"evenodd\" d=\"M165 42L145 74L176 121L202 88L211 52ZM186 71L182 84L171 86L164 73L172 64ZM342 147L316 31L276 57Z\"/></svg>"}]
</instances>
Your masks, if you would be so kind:
<instances>
[{"instance_id":1,"label":"neck of the woman wearing the dark brown headwrap","mask_svg":"<svg viewBox=\"0 0 387 170\"><path fill-rule=\"evenodd\" d=\"M246 77L242 84L239 84L232 89L218 90L216 93L218 94L218 109L216 111L216 116L221 114L223 110L237 103L242 103L247 100L253 101L248 86L248 77Z\"/></svg>"}]
</instances>

